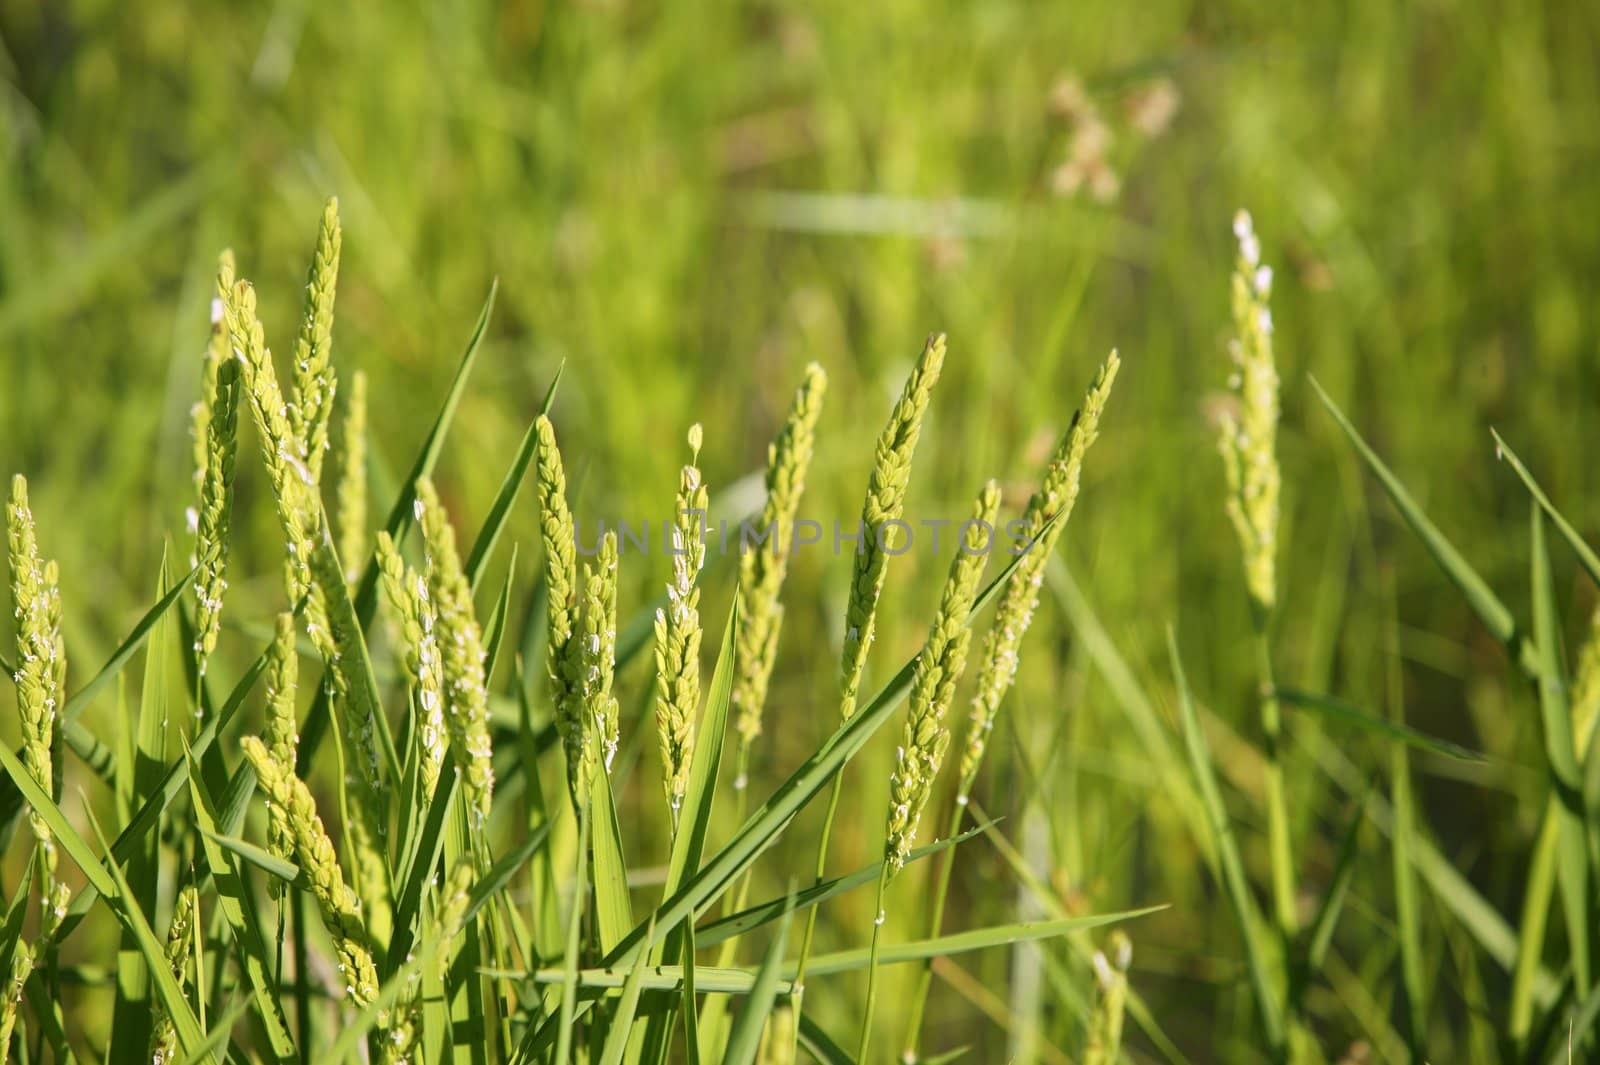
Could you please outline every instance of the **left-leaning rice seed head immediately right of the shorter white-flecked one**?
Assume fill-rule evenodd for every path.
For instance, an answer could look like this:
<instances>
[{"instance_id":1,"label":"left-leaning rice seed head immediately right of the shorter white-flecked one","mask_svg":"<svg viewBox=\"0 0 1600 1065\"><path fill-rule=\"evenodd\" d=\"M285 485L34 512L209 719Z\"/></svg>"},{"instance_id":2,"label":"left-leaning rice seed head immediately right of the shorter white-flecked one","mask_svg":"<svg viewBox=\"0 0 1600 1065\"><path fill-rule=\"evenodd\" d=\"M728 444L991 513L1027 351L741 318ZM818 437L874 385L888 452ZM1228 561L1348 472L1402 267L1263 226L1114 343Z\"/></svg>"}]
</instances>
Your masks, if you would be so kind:
<instances>
[{"instance_id":1,"label":"left-leaning rice seed head immediately right of the shorter white-flecked one","mask_svg":"<svg viewBox=\"0 0 1600 1065\"><path fill-rule=\"evenodd\" d=\"M467 803L477 827L490 816L494 795L494 750L490 744L490 697L483 676L483 633L472 606L472 585L461 569L456 531L430 478L416 483L418 520L427 548L427 593L438 622L445 729L466 774Z\"/></svg>"}]
</instances>

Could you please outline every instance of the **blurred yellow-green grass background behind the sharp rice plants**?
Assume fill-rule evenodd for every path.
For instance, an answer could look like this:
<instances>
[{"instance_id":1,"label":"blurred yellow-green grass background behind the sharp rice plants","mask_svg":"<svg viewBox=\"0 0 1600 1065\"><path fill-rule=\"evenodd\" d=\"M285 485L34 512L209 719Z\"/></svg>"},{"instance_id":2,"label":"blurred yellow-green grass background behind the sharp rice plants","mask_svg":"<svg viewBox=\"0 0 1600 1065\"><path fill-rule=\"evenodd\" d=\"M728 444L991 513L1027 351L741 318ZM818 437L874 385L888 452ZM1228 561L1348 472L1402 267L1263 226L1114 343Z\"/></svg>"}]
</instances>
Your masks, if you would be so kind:
<instances>
[{"instance_id":1,"label":"blurred yellow-green grass background behind the sharp rice plants","mask_svg":"<svg viewBox=\"0 0 1600 1065\"><path fill-rule=\"evenodd\" d=\"M374 489L427 432L499 278L438 478L467 529L563 360L555 422L581 517L666 513L694 421L717 509L717 489L760 469L818 360L830 389L805 512L851 521L872 437L928 331L949 333L950 360L917 459L917 518L963 513L989 475L1014 513L1093 366L1120 349L1062 558L1158 713L1171 721L1171 622L1218 742L1226 726L1254 740L1210 417L1229 373L1229 219L1248 206L1278 278L1280 675L1379 705L1392 571L1408 720L1496 755L1470 780L1419 760L1427 832L1515 911L1542 801L1536 705L1376 501L1306 377L1517 604L1525 497L1490 425L1581 529L1600 523L1600 6L0 0L0 467L32 481L77 668L149 601L163 542L187 552L189 406L216 253L237 251L283 352L320 203L336 193L336 360L371 376ZM235 620L277 609L266 486L254 462L242 470L253 540L237 555ZM720 505L738 517L749 499ZM534 517L525 501L512 525L525 588ZM878 680L918 646L946 561L894 564ZM1557 563L1576 641L1592 595L1570 558ZM624 560L624 614L666 564ZM726 576L714 574L710 619ZM826 552L797 561L758 793L834 728L846 576ZM954 924L1042 913L1040 891L1074 911L1173 902L1131 929L1134 987L1182 1046L1243 1055L1250 1004L1226 905L1064 590L1045 598L981 788L1040 883L966 844ZM648 668L624 691L642 708ZM1290 724L1296 846L1320 892L1350 806L1318 752L1381 764L1381 747ZM629 857L646 867L666 848L648 728L635 728L624 811ZM891 748L885 732L851 768L859 801L835 833L837 868L877 846ZM1259 872L1254 755L1222 752ZM814 817L758 892L806 860ZM1362 1038L1382 1049L1397 980L1386 851L1376 833L1363 849L1330 963L1344 975L1312 996L1331 1059ZM922 876L896 891L914 899ZM869 905L830 907L822 947L864 942ZM1502 974L1426 907L1434 1044L1451 1060L1485 1038L1474 996L1496 995ZM910 935L915 908L902 910L896 932ZM963 958L936 985L933 1041L970 1043L978 1060L1059 1060L1088 987L1062 948ZM848 1015L854 999L818 1001Z\"/></svg>"}]
</instances>

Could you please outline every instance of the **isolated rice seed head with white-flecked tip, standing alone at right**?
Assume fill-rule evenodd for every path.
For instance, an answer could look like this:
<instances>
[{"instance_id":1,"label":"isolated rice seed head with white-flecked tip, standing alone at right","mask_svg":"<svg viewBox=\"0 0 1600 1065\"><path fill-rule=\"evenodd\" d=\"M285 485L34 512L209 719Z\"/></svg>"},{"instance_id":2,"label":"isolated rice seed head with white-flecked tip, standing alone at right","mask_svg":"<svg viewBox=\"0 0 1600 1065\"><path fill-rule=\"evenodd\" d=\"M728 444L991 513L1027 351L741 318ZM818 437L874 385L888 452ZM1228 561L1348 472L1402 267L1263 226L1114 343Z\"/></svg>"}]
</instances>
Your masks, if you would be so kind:
<instances>
[{"instance_id":1,"label":"isolated rice seed head with white-flecked tip, standing alone at right","mask_svg":"<svg viewBox=\"0 0 1600 1065\"><path fill-rule=\"evenodd\" d=\"M1234 373L1229 389L1237 413L1221 419L1227 517L1245 556L1245 585L1258 622L1277 604L1278 534L1278 369L1272 355L1272 267L1261 262L1261 241L1248 211L1234 216Z\"/></svg>"}]
</instances>

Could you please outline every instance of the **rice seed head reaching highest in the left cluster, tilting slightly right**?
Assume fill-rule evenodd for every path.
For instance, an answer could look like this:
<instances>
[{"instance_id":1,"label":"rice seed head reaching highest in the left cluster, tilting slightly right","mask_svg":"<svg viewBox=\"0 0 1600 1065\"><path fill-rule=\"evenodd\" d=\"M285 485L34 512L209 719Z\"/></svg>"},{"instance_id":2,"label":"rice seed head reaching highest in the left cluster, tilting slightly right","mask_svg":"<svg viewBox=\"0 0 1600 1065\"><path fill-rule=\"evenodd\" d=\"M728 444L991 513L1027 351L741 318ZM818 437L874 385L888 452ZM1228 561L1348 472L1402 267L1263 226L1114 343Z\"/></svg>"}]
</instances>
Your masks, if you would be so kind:
<instances>
[{"instance_id":1,"label":"rice seed head reaching highest in the left cluster, tilting slightly right","mask_svg":"<svg viewBox=\"0 0 1600 1065\"><path fill-rule=\"evenodd\" d=\"M339 198L333 197L322 209L317 249L306 273L306 313L294 339L294 390L290 401L290 425L312 483L322 483L328 421L338 390L333 373L333 299L339 281L341 245Z\"/></svg>"}]
</instances>

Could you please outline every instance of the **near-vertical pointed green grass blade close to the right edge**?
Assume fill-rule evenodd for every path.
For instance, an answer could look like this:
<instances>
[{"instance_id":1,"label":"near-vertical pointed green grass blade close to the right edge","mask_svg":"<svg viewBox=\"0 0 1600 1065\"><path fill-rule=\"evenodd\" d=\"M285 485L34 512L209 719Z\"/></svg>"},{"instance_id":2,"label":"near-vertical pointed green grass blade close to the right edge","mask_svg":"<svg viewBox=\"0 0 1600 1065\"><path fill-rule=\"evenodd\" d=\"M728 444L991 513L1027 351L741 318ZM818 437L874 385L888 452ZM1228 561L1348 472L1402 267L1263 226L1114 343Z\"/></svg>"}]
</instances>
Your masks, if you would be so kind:
<instances>
[{"instance_id":1,"label":"near-vertical pointed green grass blade close to the right edge","mask_svg":"<svg viewBox=\"0 0 1600 1065\"><path fill-rule=\"evenodd\" d=\"M1589 995L1589 841L1584 830L1582 774L1573 745L1573 715L1566 699L1566 670L1562 665L1560 620L1550 579L1550 553L1544 539L1544 513L1531 507L1533 632L1539 648L1539 710L1544 718L1544 750L1555 788L1560 832L1557 833L1557 881L1566 915L1578 996Z\"/></svg>"}]
</instances>

